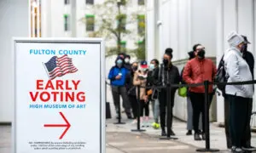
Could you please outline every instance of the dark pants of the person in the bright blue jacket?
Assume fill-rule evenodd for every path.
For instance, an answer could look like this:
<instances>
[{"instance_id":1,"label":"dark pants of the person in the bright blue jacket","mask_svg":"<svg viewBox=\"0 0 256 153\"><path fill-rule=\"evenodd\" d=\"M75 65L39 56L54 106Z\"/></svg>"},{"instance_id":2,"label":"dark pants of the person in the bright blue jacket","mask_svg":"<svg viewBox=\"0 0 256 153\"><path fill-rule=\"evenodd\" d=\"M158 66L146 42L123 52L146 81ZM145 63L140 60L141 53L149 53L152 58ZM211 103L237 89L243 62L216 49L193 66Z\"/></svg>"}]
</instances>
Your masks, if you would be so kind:
<instances>
[{"instance_id":1,"label":"dark pants of the person in the bright blue jacket","mask_svg":"<svg viewBox=\"0 0 256 153\"><path fill-rule=\"evenodd\" d=\"M131 116L131 105L128 98L128 94L125 87L111 86L113 95L113 104L115 111L119 114L120 95L123 99L123 105L125 105L125 112L127 116Z\"/></svg>"}]
</instances>

